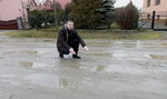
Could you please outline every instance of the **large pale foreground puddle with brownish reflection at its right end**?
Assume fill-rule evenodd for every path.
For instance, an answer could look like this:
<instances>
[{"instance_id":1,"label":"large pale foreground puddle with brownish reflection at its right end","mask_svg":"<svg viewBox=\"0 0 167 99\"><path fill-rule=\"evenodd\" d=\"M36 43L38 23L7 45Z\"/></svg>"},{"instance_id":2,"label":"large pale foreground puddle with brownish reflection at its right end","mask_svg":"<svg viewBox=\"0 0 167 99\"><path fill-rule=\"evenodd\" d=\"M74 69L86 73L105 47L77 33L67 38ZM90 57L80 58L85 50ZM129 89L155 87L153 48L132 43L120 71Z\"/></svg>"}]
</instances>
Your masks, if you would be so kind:
<instances>
[{"instance_id":1,"label":"large pale foreground puddle with brownish reflection at its right end","mask_svg":"<svg viewBox=\"0 0 167 99\"><path fill-rule=\"evenodd\" d=\"M26 76L24 79L32 85L51 89L70 88L70 82L67 79L60 78L56 75L35 73Z\"/></svg>"}]
</instances>

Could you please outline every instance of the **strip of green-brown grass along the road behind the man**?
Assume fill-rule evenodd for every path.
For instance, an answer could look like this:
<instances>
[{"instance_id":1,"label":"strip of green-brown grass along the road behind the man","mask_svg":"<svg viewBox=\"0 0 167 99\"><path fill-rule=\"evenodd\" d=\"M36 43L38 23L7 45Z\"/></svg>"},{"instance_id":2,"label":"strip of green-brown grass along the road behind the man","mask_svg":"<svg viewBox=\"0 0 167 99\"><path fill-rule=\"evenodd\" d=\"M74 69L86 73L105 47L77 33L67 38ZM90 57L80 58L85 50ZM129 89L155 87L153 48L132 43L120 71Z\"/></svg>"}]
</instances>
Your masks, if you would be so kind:
<instances>
[{"instance_id":1,"label":"strip of green-brown grass along the road behind the man","mask_svg":"<svg viewBox=\"0 0 167 99\"><path fill-rule=\"evenodd\" d=\"M155 31L128 30L78 30L84 39L130 39L154 40L161 39L161 33ZM58 30L24 30L6 33L11 38L57 38Z\"/></svg>"}]
</instances>

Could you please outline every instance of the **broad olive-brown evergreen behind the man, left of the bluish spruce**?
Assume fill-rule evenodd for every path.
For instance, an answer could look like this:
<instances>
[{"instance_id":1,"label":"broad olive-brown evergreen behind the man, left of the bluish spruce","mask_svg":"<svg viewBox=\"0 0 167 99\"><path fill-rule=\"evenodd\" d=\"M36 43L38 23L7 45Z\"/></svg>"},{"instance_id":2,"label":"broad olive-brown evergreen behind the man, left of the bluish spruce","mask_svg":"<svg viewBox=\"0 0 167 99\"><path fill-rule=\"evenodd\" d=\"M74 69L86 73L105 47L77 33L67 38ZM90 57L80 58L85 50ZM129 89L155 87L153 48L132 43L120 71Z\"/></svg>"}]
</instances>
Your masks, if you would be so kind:
<instances>
[{"instance_id":1,"label":"broad olive-brown evergreen behind the man, left of the bluish spruce","mask_svg":"<svg viewBox=\"0 0 167 99\"><path fill-rule=\"evenodd\" d=\"M96 9L100 7L100 0L72 0L69 17L75 21L76 28L92 29L98 27L100 20Z\"/></svg>"}]
</instances>

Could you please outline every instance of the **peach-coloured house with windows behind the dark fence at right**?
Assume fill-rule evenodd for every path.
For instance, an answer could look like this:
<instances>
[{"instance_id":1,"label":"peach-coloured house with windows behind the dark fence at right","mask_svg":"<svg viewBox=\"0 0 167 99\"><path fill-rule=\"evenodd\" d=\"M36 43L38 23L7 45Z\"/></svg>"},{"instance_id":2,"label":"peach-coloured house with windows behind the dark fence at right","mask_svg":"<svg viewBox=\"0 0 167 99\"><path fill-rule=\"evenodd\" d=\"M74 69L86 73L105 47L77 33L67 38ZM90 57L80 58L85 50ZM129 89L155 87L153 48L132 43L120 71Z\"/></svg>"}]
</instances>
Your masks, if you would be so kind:
<instances>
[{"instance_id":1,"label":"peach-coloured house with windows behind the dark fence at right","mask_svg":"<svg viewBox=\"0 0 167 99\"><path fill-rule=\"evenodd\" d=\"M157 19L167 19L167 0L144 0L143 13L149 18L153 11Z\"/></svg>"}]
</instances>

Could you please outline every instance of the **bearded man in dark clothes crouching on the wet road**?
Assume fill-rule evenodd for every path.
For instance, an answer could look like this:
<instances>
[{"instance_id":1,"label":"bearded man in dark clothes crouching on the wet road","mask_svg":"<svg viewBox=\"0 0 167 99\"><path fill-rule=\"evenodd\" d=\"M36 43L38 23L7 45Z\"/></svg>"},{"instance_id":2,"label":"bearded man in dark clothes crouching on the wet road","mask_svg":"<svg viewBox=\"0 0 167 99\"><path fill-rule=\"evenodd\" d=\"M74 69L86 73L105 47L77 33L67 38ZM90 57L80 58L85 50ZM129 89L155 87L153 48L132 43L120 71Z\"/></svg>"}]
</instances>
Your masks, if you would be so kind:
<instances>
[{"instance_id":1,"label":"bearded man in dark clothes crouching on the wet road","mask_svg":"<svg viewBox=\"0 0 167 99\"><path fill-rule=\"evenodd\" d=\"M82 38L73 29L73 22L68 21L58 33L57 48L60 58L72 55L72 58L81 59L78 56L79 43L81 43L84 50L89 50Z\"/></svg>"}]
</instances>

